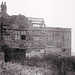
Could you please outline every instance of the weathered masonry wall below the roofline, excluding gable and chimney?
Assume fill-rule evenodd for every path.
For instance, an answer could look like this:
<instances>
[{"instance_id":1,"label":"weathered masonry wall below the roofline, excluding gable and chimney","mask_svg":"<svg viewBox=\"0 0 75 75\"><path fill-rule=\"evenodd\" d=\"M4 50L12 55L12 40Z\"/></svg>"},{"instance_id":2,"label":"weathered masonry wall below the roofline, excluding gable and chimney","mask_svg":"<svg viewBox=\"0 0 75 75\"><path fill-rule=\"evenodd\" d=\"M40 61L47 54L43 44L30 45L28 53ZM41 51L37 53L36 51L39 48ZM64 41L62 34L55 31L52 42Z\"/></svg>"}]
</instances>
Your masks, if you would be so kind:
<instances>
[{"instance_id":1,"label":"weathered masonry wall below the roofline, excluding gable and chimney","mask_svg":"<svg viewBox=\"0 0 75 75\"><path fill-rule=\"evenodd\" d=\"M9 35L7 40L5 36L5 43L9 45L11 48L19 48L19 49L26 49L29 50L28 55L35 53L35 55L43 54L41 53L41 49L46 51L47 53L58 53L59 55L71 55L71 30L70 29L56 29L56 28L48 28L44 29L40 28L33 28L30 30L23 30L26 31L26 40L17 40L15 39L15 31L22 31L22 30L13 30L12 34ZM13 36L12 36L13 35ZM20 35L21 36L21 35ZM13 37L13 40L12 40ZM65 51L63 52L63 49ZM37 51L38 50L38 51ZM38 54L37 54L38 53Z\"/></svg>"}]
</instances>

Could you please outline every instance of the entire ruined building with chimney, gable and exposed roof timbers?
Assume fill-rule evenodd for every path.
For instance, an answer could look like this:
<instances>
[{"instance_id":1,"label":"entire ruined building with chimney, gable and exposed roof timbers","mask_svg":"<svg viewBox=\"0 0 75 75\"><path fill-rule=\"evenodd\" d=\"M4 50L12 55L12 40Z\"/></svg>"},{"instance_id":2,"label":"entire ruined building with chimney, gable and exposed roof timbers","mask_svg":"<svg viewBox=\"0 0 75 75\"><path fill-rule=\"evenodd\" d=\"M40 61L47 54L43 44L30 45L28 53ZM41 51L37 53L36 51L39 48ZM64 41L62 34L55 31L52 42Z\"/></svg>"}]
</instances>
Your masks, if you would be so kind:
<instances>
[{"instance_id":1,"label":"entire ruined building with chimney, gable and exposed roof timbers","mask_svg":"<svg viewBox=\"0 0 75 75\"><path fill-rule=\"evenodd\" d=\"M2 2L0 35L3 40L0 41L11 48L6 51L8 56L20 59L21 56L42 56L49 53L71 55L70 28L46 27L42 18L25 17L21 14L10 16L6 10L6 3Z\"/></svg>"}]
</instances>

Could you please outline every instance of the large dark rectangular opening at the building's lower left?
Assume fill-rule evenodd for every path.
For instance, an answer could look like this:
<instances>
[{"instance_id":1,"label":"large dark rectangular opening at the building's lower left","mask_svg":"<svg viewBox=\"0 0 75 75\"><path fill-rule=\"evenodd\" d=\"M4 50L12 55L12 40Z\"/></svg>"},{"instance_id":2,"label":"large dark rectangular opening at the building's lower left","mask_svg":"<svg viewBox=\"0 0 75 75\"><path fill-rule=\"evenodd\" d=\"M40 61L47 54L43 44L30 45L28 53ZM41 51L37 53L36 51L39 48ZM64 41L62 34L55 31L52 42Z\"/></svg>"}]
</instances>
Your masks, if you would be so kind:
<instances>
[{"instance_id":1,"label":"large dark rectangular opening at the building's lower left","mask_svg":"<svg viewBox=\"0 0 75 75\"><path fill-rule=\"evenodd\" d=\"M26 57L25 49L8 49L5 50L5 62L14 60L14 61L23 61Z\"/></svg>"}]
</instances>

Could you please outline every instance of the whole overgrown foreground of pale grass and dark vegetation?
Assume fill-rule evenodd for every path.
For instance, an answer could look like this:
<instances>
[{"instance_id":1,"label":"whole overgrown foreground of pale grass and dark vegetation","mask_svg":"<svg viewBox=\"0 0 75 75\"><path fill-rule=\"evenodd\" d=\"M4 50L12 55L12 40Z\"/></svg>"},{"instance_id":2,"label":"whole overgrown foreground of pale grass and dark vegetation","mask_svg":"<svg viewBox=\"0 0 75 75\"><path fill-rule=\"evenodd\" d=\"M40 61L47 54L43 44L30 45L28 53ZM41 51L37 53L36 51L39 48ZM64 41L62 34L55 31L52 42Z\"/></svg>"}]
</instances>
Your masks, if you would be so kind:
<instances>
[{"instance_id":1,"label":"whole overgrown foreground of pale grass and dark vegetation","mask_svg":"<svg viewBox=\"0 0 75 75\"><path fill-rule=\"evenodd\" d=\"M75 75L75 58L50 54L44 58L32 57L23 61L12 61L6 63L3 75L28 75L28 73L34 75L31 71L26 72L27 68L28 70L31 68L30 70L33 70L34 73L36 73L35 69L38 73L41 70L40 75Z\"/></svg>"}]
</instances>

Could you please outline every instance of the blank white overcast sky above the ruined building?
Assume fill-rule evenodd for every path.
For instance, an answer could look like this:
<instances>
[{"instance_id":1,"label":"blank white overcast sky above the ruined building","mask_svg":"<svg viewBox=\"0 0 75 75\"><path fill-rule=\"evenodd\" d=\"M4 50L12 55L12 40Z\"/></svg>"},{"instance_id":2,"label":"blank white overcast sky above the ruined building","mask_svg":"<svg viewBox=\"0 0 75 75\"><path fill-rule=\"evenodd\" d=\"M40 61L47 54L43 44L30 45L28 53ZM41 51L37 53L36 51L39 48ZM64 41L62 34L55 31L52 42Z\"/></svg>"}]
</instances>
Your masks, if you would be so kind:
<instances>
[{"instance_id":1,"label":"blank white overcast sky above the ruined building","mask_svg":"<svg viewBox=\"0 0 75 75\"><path fill-rule=\"evenodd\" d=\"M75 0L0 0L9 15L44 18L46 26L72 28L72 53L75 52Z\"/></svg>"}]
</instances>

